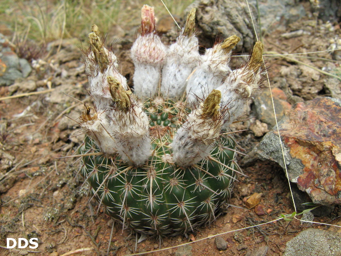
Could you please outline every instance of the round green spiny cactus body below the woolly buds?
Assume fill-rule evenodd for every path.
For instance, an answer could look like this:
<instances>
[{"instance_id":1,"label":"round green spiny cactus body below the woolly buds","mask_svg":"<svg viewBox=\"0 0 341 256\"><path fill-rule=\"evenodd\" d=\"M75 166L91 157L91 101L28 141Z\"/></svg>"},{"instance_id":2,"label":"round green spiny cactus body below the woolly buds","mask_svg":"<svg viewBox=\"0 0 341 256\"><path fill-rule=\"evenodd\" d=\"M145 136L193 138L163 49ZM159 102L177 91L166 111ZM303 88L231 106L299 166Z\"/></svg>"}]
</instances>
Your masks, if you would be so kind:
<instances>
[{"instance_id":1,"label":"round green spiny cactus body below the woolly buds","mask_svg":"<svg viewBox=\"0 0 341 256\"><path fill-rule=\"evenodd\" d=\"M234 148L234 142L222 135L210 154L215 161L203 159L195 166L179 167L171 161L170 143L181 119L178 114L189 108L173 107L170 100L163 106L151 105L145 103L146 112L163 123L150 128L156 132L153 154L145 165L133 167L118 155L93 155L82 157L81 172L107 213L124 226L150 235L186 234L215 220L220 206L230 198L235 152L228 149ZM151 109L156 112L148 112ZM89 137L79 149L80 154L99 152Z\"/></svg>"}]
</instances>

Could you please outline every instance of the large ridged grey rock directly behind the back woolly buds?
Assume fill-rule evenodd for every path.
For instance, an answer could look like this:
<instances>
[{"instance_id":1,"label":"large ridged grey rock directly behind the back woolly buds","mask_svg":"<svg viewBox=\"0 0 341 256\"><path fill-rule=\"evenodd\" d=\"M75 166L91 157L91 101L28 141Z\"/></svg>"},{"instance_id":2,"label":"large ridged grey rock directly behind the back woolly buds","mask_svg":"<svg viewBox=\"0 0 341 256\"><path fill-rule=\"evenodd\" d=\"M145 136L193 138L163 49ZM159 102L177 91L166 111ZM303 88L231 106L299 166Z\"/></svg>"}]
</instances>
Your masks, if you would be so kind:
<instances>
[{"instance_id":1,"label":"large ridged grey rock directly behind the back woolly buds","mask_svg":"<svg viewBox=\"0 0 341 256\"><path fill-rule=\"evenodd\" d=\"M242 49L250 52L256 41L249 10L244 1L235 0L196 0L185 10L196 8L197 36L200 45L211 47L217 35L227 38L237 35L241 38L235 51ZM257 22L257 12L253 4L250 10L254 22ZM256 26L257 29L258 26Z\"/></svg>"}]
</instances>

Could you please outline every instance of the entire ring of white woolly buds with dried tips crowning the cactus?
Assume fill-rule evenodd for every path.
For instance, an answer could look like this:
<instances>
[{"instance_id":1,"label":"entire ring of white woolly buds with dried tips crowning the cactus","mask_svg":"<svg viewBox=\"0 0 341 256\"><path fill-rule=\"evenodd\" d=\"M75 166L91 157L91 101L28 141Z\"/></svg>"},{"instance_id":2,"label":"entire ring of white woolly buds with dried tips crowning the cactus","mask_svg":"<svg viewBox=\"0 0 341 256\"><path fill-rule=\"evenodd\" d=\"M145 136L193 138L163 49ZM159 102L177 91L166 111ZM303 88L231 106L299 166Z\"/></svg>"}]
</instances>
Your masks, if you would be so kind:
<instances>
[{"instance_id":1,"label":"entire ring of white woolly buds with dried tips crowning the cactus","mask_svg":"<svg viewBox=\"0 0 341 256\"><path fill-rule=\"evenodd\" d=\"M186 96L193 109L174 132L172 157L179 166L193 165L209 155L221 129L241 116L243 105L263 87L263 43L256 42L249 60L232 71L229 59L240 39L231 36L200 55L195 9L170 46L156 34L153 8L144 5L141 14L141 35L131 49L134 95L117 71L114 53L103 46L93 26L86 72L95 113L85 106L81 124L104 153L143 165L152 153L149 119L139 100L152 101L160 93L165 99Z\"/></svg>"}]
</instances>

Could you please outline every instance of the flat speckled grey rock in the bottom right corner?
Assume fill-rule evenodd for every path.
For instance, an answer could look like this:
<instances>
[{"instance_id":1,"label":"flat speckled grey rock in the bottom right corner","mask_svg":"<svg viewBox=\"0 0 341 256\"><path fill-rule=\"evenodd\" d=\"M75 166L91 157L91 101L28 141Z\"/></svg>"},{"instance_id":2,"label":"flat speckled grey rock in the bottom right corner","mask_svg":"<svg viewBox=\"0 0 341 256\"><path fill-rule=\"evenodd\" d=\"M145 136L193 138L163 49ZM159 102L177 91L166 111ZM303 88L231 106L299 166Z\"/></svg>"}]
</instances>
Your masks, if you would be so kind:
<instances>
[{"instance_id":1,"label":"flat speckled grey rock in the bottom right corner","mask_svg":"<svg viewBox=\"0 0 341 256\"><path fill-rule=\"evenodd\" d=\"M286 243L283 256L341 255L341 234L309 228Z\"/></svg>"}]
</instances>

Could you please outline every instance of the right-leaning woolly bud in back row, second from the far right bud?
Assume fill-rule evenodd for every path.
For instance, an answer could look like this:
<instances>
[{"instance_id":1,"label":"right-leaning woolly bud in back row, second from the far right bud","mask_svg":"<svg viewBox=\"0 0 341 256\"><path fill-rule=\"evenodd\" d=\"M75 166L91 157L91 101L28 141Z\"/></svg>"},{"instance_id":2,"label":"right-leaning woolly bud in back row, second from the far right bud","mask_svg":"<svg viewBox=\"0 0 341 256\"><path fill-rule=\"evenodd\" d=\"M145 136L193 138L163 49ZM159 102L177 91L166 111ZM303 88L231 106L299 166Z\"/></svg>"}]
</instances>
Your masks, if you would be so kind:
<instances>
[{"instance_id":1,"label":"right-leaning woolly bud in back row, second from the far right bud","mask_svg":"<svg viewBox=\"0 0 341 256\"><path fill-rule=\"evenodd\" d=\"M187 82L188 104L197 104L199 98L206 98L213 89L222 84L223 79L231 72L228 66L229 58L232 48L239 40L240 38L234 35L206 51Z\"/></svg>"}]
</instances>

